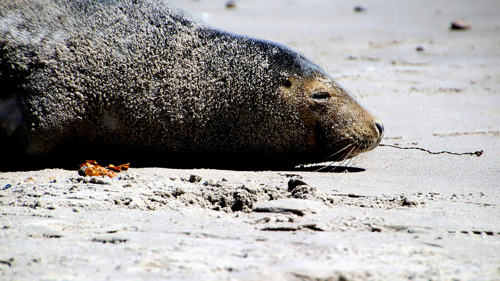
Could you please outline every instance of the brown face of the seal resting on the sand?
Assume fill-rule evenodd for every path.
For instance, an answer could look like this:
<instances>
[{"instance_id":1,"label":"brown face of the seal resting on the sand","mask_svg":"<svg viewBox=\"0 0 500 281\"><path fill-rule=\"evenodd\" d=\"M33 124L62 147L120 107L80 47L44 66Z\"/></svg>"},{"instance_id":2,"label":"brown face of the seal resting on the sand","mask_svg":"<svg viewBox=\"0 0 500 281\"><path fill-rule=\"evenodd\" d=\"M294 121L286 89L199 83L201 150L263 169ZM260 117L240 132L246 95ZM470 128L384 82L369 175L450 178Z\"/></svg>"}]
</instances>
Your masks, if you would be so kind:
<instances>
[{"instance_id":1,"label":"brown face of the seal resting on the sand","mask_svg":"<svg viewBox=\"0 0 500 281\"><path fill-rule=\"evenodd\" d=\"M287 99L299 101L294 104L309 132L307 143L322 161L352 158L380 143L380 120L330 77L295 76L284 84Z\"/></svg>"}]
</instances>

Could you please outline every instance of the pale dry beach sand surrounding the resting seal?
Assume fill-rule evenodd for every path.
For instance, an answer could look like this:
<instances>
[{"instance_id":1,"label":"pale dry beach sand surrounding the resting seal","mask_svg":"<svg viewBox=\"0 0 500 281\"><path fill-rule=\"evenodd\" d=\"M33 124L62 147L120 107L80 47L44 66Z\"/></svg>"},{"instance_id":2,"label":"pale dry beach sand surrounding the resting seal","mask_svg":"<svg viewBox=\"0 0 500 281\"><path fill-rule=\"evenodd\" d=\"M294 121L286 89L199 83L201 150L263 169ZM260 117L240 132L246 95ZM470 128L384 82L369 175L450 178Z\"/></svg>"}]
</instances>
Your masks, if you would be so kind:
<instances>
[{"instance_id":1,"label":"pale dry beach sand surrounding the resting seal","mask_svg":"<svg viewBox=\"0 0 500 281\"><path fill-rule=\"evenodd\" d=\"M500 280L500 2L175 2L320 56L383 143L484 154L378 147L345 173L0 173L0 279ZM297 176L309 185L288 192Z\"/></svg>"}]
</instances>

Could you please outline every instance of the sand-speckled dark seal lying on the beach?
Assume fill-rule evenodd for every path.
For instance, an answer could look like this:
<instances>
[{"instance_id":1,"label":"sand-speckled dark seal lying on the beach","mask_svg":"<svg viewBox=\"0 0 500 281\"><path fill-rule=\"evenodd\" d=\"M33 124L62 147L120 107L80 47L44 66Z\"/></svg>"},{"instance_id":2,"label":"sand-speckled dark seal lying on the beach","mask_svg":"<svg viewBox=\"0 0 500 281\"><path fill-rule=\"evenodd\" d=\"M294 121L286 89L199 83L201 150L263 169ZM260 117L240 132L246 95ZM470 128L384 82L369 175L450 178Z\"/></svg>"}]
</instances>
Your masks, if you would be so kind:
<instances>
[{"instance_id":1,"label":"sand-speckled dark seal lying on the beach","mask_svg":"<svg viewBox=\"0 0 500 281\"><path fill-rule=\"evenodd\" d=\"M287 46L163 0L0 3L0 170L260 169L352 158L381 122Z\"/></svg>"}]
</instances>

